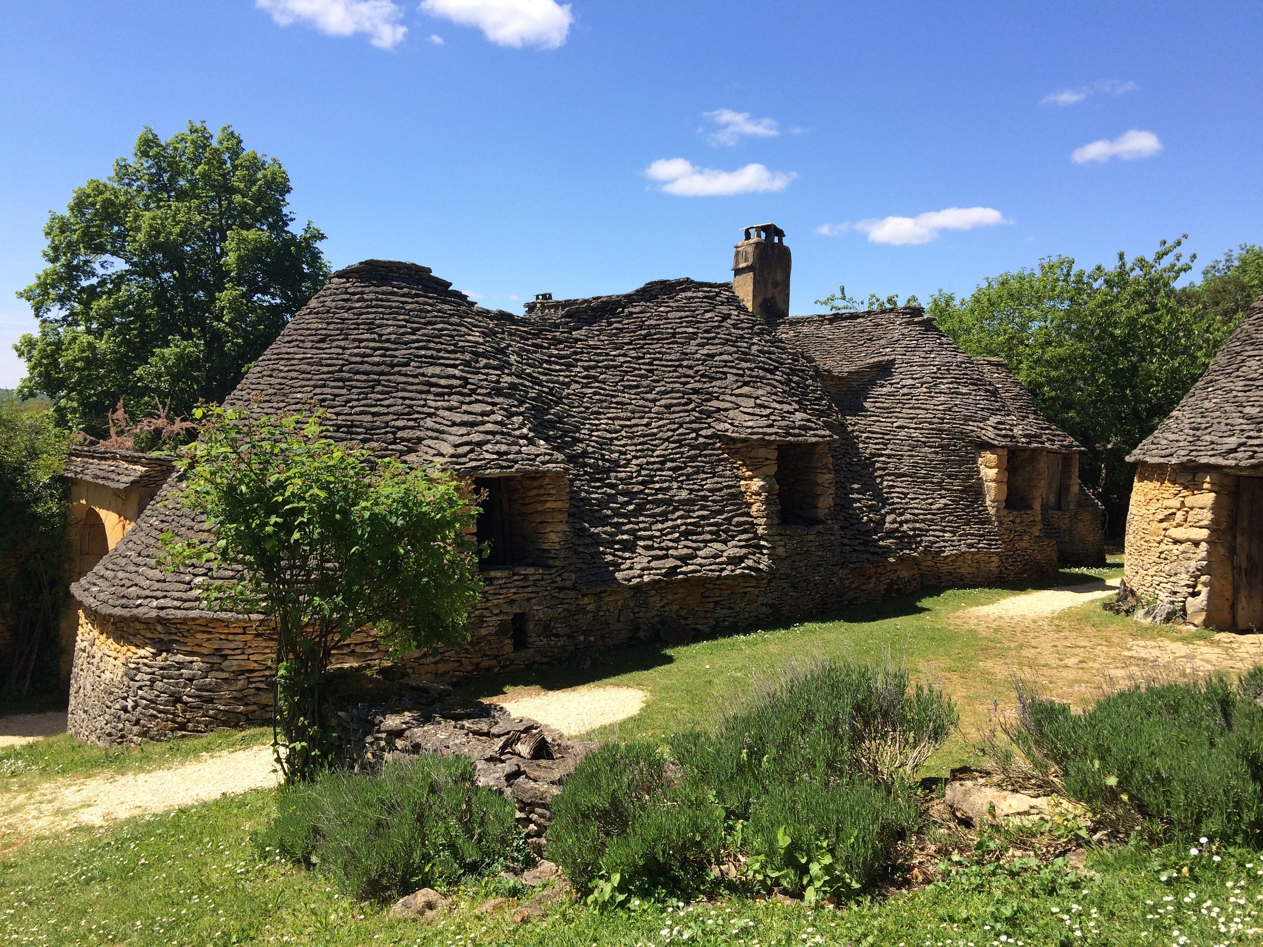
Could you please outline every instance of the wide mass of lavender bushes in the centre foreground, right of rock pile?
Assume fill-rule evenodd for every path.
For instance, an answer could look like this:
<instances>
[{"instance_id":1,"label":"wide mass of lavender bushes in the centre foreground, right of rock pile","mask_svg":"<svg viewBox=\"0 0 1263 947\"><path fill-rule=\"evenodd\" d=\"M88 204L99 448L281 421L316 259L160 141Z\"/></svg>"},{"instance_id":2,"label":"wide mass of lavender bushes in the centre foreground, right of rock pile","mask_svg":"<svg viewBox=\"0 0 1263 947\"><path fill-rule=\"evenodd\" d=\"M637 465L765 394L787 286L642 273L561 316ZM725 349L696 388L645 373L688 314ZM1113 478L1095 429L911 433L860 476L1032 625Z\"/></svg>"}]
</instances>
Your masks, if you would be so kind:
<instances>
[{"instance_id":1,"label":"wide mass of lavender bushes in the centre foreground, right of rock pile","mask_svg":"<svg viewBox=\"0 0 1263 947\"><path fill-rule=\"evenodd\" d=\"M582 889L618 874L629 890L695 891L714 884L725 845L750 856L758 883L865 888L916 827L912 778L955 721L951 701L903 669L799 669L717 734L676 736L669 758L648 741L587 756L557 798L548 854Z\"/></svg>"}]
</instances>

